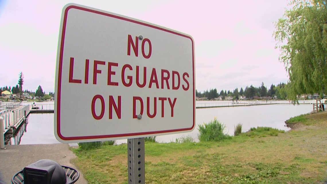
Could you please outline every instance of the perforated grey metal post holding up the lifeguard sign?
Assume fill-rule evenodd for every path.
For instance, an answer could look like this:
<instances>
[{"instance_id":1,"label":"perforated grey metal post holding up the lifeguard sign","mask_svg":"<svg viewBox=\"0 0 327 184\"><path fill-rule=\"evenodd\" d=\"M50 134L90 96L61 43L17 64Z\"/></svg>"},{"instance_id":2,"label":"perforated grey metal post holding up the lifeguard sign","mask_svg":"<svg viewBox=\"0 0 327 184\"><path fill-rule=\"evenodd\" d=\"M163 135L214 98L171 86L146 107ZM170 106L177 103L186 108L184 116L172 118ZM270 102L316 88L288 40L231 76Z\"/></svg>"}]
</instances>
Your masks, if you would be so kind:
<instances>
[{"instance_id":1,"label":"perforated grey metal post holding up the lifeguard sign","mask_svg":"<svg viewBox=\"0 0 327 184\"><path fill-rule=\"evenodd\" d=\"M127 139L129 184L145 184L144 160L144 138Z\"/></svg>"}]
</instances>

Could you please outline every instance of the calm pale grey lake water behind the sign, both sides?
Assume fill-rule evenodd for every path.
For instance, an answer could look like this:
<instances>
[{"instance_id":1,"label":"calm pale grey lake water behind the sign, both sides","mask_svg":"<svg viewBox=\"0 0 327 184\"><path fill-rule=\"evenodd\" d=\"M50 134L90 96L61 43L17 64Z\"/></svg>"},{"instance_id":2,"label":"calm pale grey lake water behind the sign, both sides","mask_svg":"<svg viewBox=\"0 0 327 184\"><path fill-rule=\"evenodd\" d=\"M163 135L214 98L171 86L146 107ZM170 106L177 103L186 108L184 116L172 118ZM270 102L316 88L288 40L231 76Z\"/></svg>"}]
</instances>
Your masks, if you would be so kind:
<instances>
[{"instance_id":1,"label":"calm pale grey lake water behind the sign, both sides","mask_svg":"<svg viewBox=\"0 0 327 184\"><path fill-rule=\"evenodd\" d=\"M219 103L220 102L220 103ZM242 101L243 102L243 101ZM276 101L273 101L276 102ZM279 102L279 101L278 101ZM182 134L172 134L157 136L157 142L175 142L176 138L191 136L195 141L198 141L198 124L209 122L215 117L220 122L226 125L226 132L233 135L234 126L238 123L243 124L243 132L248 131L251 127L267 126L278 128L281 130L289 130L285 127L285 120L290 117L301 114L310 113L312 111L312 104L300 105L289 104L288 101L281 101L285 104L269 104L269 105L254 105L254 106L232 106L232 107L215 107L215 108L197 108L196 109L196 128L192 132ZM305 101L313 102L313 101ZM42 102L37 104L48 104L49 102ZM53 103L53 102L52 102ZM222 103L232 104L232 101L197 101L197 106L204 106L204 103L215 103L215 105ZM269 101L252 101L251 103L270 103ZM301 104L302 103L302 104ZM226 104L223 104L226 105ZM45 108L45 107L44 107ZM47 108L53 109L53 106ZM59 143L54 136L54 114L29 114L27 117L26 132L20 139L19 144L53 144ZM11 141L11 144L18 144ZM127 139L116 140L117 144L126 143Z\"/></svg>"}]
</instances>

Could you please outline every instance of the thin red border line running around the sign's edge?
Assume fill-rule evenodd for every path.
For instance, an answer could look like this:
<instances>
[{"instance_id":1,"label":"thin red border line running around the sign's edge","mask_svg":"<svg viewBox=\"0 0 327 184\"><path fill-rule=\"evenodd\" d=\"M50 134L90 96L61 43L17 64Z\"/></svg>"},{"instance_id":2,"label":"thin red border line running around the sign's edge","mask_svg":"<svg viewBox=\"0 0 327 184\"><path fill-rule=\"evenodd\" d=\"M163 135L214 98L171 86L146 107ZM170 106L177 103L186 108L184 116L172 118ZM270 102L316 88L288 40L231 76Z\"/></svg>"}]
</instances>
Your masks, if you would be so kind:
<instances>
[{"instance_id":1,"label":"thin red border line running around the sign's edge","mask_svg":"<svg viewBox=\"0 0 327 184\"><path fill-rule=\"evenodd\" d=\"M92 12L92 13L97 13L100 15L105 15L105 16L109 16L109 17L113 17L113 18L117 18L117 19L121 19L121 20L125 20L125 21L129 21L132 23L136 23L136 24L140 24L143 26L147 26L150 28L155 28L155 29L159 29L162 31L166 31L169 33L173 33L179 36L183 36L186 38L189 38L192 42L192 59L193 59L193 125L190 128L181 128L181 129L172 129L172 130L161 130L161 131L152 131L152 132L138 132L138 133L128 133L128 134L113 134L113 135L97 135L97 136L77 136L77 137L64 137L61 132L60 132L60 95L61 95L61 71L62 71L62 57L63 57L63 46L64 46L64 40L65 40L65 31L66 31L66 22L67 22L67 14L68 11L70 9L80 9L80 10L84 10L84 11L88 11L88 12ZM187 130L192 130L195 126L195 63L194 63L194 41L192 39L192 37L188 36L188 35L184 35L181 34L179 32L174 32L172 30L168 30L162 27L158 27L155 25L150 25L144 22L139 22L136 20L132 20L132 19L128 19L125 17L120 17L117 15L113 15L110 14L108 12L101 12L98 10L94 10L94 9L87 9L84 7L78 7L76 5L70 5L65 9L65 14L64 14L64 20L63 20L63 25L62 25L62 34L61 34L61 40L60 40L60 59L59 59L59 72L58 72L58 91L57 93L57 135L59 136L59 138L61 138L62 140L83 140L83 139L99 139L99 138L118 138L118 137L128 137L128 136L140 136L140 135L149 135L149 134L161 134L161 133L169 133L169 132L181 132L181 131L187 131Z\"/></svg>"}]
</instances>

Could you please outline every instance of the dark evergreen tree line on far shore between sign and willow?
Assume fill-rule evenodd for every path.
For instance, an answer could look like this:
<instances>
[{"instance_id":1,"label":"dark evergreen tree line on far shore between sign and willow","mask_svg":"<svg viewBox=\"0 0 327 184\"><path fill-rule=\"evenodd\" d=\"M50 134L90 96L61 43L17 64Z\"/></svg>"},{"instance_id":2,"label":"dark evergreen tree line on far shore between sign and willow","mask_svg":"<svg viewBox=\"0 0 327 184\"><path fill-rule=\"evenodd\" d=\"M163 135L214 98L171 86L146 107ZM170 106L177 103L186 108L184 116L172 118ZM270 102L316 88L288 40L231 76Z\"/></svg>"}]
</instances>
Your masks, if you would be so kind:
<instances>
[{"instance_id":1,"label":"dark evergreen tree line on far shore between sign and willow","mask_svg":"<svg viewBox=\"0 0 327 184\"><path fill-rule=\"evenodd\" d=\"M223 100L226 97L233 97L234 100L239 100L240 96L246 96L248 99L253 99L255 96L257 97L274 97L276 96L278 99L285 100L287 98L286 95L286 84L279 83L277 86L271 84L270 88L267 88L264 82L261 83L259 87L254 87L252 84L250 86L246 86L245 89L241 87L240 90L236 87L234 90L224 91L221 90L220 92L217 91L216 88L203 91L203 93L198 92L196 90L196 96L199 98L207 97L208 100L221 97Z\"/></svg>"}]
</instances>

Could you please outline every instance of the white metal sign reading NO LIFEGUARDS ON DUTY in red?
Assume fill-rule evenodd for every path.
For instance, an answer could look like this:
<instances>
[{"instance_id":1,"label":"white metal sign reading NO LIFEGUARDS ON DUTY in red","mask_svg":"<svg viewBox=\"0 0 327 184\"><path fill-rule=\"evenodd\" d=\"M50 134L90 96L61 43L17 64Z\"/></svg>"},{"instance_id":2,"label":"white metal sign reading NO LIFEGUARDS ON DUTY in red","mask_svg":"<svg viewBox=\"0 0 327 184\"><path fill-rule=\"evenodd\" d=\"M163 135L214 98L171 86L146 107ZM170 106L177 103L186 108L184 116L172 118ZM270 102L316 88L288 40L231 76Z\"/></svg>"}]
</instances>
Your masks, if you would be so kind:
<instances>
[{"instance_id":1,"label":"white metal sign reading NO LIFEGUARDS ON DUTY in red","mask_svg":"<svg viewBox=\"0 0 327 184\"><path fill-rule=\"evenodd\" d=\"M68 4L62 10L55 94L54 129L61 142L190 132L193 38Z\"/></svg>"}]
</instances>

